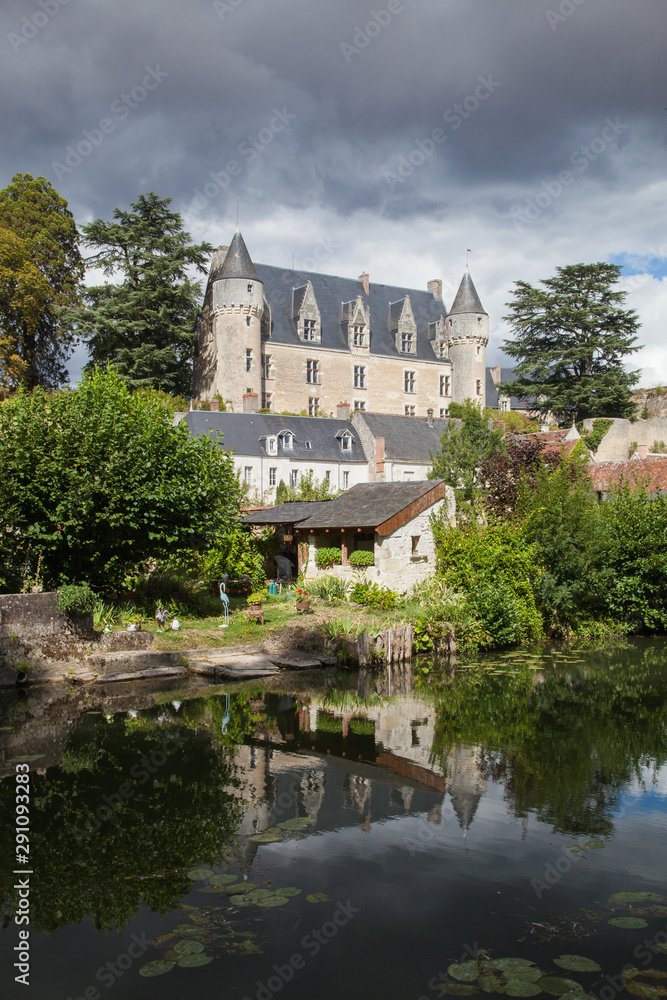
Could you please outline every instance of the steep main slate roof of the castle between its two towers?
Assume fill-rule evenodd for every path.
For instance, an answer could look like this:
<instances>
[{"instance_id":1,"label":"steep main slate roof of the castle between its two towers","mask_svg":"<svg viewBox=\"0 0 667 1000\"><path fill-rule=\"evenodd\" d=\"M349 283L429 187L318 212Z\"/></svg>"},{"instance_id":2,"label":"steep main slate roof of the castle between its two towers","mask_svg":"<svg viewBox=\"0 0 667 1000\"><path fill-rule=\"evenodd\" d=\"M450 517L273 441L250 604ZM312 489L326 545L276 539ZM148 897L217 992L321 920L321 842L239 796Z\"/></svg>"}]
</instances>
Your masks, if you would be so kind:
<instances>
[{"instance_id":1,"label":"steep main slate roof of the castle between its two towers","mask_svg":"<svg viewBox=\"0 0 667 1000\"><path fill-rule=\"evenodd\" d=\"M372 354L400 357L406 366L409 366L411 358L420 361L440 361L445 365L450 363L447 359L436 357L431 346L432 342L429 340L429 323L437 323L441 316L447 314L444 304L435 299L431 292L371 282L369 293L366 295L364 286L355 278L339 278L313 271L292 271L289 268L273 267L268 264L257 264L257 273L264 282L266 298L271 306L271 336L264 341L268 352L271 350L272 341L304 346L297 335L292 290L311 281L322 319L322 347L345 351L349 355L347 335L340 323L341 305L361 295L364 305L371 311ZM410 296L417 324L417 350L413 355L402 354L396 349L396 342L390 329L390 305L392 302L402 300L406 295ZM363 363L362 358L360 362Z\"/></svg>"}]
</instances>

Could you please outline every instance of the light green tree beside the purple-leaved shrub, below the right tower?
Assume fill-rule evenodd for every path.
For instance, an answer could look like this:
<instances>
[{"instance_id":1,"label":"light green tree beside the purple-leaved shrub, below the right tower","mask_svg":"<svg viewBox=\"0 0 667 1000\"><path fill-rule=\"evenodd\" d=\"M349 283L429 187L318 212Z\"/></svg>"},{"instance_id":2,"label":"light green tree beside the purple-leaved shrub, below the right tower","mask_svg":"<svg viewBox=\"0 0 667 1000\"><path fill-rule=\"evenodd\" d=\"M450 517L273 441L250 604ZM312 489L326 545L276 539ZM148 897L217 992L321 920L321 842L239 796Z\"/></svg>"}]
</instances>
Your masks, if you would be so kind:
<instances>
[{"instance_id":1,"label":"light green tree beside the purple-leaved shrub, below the right tower","mask_svg":"<svg viewBox=\"0 0 667 1000\"><path fill-rule=\"evenodd\" d=\"M484 462L504 451L502 431L493 428L470 399L463 404L461 420L450 421L433 455L429 479L444 479L456 492L457 508L469 504L480 492L479 471Z\"/></svg>"}]
</instances>

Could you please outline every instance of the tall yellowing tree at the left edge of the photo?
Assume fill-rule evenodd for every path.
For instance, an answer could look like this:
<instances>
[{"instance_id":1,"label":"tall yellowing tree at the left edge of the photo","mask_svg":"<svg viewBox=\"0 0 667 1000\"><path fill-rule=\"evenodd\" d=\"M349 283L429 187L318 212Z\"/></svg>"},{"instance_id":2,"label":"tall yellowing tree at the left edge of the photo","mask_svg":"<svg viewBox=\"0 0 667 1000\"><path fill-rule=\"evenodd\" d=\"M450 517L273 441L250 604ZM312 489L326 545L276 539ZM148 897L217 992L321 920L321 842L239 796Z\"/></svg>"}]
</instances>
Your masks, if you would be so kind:
<instances>
[{"instance_id":1,"label":"tall yellowing tree at the left edge of the photo","mask_svg":"<svg viewBox=\"0 0 667 1000\"><path fill-rule=\"evenodd\" d=\"M0 228L0 266L18 268L14 282L0 278L0 337L21 362L6 388L55 389L75 340L62 310L79 302L84 273L74 216L44 177L16 174L0 191Z\"/></svg>"}]
</instances>

